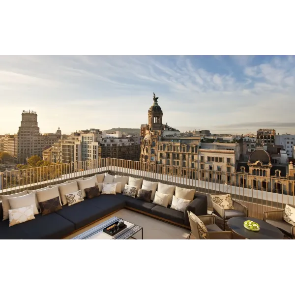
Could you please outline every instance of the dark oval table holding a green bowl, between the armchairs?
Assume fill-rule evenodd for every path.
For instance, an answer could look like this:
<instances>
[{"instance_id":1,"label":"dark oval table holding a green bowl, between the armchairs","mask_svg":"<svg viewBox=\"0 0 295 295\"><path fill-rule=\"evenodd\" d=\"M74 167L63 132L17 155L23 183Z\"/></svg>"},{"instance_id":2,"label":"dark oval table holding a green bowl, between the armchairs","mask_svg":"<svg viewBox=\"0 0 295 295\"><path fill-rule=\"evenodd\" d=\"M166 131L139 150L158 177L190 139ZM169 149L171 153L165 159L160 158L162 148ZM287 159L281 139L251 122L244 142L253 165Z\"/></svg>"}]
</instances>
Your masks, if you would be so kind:
<instances>
[{"instance_id":1,"label":"dark oval table holding a green bowl, between the armchairs","mask_svg":"<svg viewBox=\"0 0 295 295\"><path fill-rule=\"evenodd\" d=\"M244 222L252 220L259 224L260 231L252 232L244 228ZM228 220L228 227L236 234L252 240L275 240L283 239L283 233L275 226L253 217L233 217Z\"/></svg>"}]
</instances>

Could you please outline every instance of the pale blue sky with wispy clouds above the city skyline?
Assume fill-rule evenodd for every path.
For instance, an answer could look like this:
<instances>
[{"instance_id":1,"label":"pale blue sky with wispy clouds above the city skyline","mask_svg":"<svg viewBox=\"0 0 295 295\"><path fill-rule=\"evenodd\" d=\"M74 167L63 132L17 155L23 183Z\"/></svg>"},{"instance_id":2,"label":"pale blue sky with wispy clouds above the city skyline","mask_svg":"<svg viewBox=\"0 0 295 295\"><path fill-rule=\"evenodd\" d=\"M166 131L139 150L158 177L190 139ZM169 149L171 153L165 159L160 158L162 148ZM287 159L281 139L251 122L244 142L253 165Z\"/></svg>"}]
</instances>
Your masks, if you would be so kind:
<instances>
[{"instance_id":1,"label":"pale blue sky with wispy clouds above the city skyline","mask_svg":"<svg viewBox=\"0 0 295 295\"><path fill-rule=\"evenodd\" d=\"M180 131L295 134L295 56L0 56L0 134L140 128L153 92Z\"/></svg>"}]
</instances>

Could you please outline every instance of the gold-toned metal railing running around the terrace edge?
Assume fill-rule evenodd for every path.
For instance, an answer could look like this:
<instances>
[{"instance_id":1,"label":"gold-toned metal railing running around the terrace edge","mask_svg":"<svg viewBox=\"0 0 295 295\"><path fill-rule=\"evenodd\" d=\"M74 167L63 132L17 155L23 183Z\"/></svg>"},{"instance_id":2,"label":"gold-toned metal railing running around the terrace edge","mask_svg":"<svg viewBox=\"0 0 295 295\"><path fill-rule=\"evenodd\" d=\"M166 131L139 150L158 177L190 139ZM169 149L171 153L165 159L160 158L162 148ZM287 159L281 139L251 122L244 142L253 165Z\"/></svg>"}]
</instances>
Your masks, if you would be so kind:
<instances>
[{"instance_id":1,"label":"gold-toned metal railing running around the terrace edge","mask_svg":"<svg viewBox=\"0 0 295 295\"><path fill-rule=\"evenodd\" d=\"M212 207L211 194L230 193L234 200L248 207L250 216L257 218L263 218L265 211L282 209L286 204L295 205L294 180L114 158L2 172L0 195L35 190L104 172L193 188L197 193L207 195L209 209Z\"/></svg>"}]
</instances>

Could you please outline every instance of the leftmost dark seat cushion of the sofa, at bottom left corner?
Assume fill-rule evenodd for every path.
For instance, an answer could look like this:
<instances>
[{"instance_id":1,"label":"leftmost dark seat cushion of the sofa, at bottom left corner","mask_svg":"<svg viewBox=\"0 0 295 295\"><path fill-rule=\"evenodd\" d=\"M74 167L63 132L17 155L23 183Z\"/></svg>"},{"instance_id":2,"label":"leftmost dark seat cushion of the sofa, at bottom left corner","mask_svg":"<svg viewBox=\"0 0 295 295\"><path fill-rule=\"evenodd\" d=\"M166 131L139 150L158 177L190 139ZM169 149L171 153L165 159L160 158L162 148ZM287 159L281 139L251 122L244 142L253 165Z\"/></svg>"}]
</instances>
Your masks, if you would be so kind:
<instances>
[{"instance_id":1,"label":"leftmost dark seat cushion of the sofa, at bottom left corner","mask_svg":"<svg viewBox=\"0 0 295 295\"><path fill-rule=\"evenodd\" d=\"M0 239L60 239L74 230L75 225L57 213L38 214L33 220L11 227L9 220L0 221Z\"/></svg>"}]
</instances>

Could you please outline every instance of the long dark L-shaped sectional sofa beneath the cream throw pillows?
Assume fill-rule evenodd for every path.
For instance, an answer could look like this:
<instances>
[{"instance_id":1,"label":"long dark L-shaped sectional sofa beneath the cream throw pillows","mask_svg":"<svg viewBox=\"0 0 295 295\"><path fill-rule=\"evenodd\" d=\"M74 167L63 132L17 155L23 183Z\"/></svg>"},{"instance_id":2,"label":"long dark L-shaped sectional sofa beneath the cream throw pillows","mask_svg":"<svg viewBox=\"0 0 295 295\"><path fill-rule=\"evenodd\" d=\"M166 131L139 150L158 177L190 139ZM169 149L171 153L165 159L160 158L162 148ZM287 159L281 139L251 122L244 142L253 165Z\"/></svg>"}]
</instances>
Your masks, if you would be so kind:
<instances>
[{"instance_id":1,"label":"long dark L-shaped sectional sofa beneath the cream throw pillows","mask_svg":"<svg viewBox=\"0 0 295 295\"><path fill-rule=\"evenodd\" d=\"M190 228L187 211L195 215L207 215L206 195L195 193L194 200L184 212L180 212L171 209L170 206L162 207L123 195L122 191L123 189L116 195L101 194L92 199L85 198L83 202L73 206L63 205L62 209L54 213L39 213L34 216L35 219L11 227L9 219L2 221L3 210L0 203L0 239L61 239L122 208L135 210L185 228Z\"/></svg>"}]
</instances>

